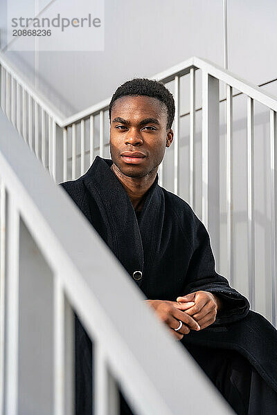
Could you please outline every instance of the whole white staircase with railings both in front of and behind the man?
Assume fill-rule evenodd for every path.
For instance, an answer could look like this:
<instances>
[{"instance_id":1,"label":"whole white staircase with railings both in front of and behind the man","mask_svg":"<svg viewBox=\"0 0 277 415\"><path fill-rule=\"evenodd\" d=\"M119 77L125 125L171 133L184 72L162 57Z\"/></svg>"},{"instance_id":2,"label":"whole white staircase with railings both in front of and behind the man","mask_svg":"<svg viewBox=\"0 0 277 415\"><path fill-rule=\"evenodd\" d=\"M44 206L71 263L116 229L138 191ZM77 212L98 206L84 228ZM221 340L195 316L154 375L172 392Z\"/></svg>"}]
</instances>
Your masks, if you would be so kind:
<instances>
[{"instance_id":1,"label":"whole white staircase with railings both in front of and behind the man","mask_svg":"<svg viewBox=\"0 0 277 415\"><path fill-rule=\"evenodd\" d=\"M138 414L177 414L184 405L186 381L179 382L184 373L189 379L188 412L198 414L208 405L215 414L229 413L230 409L195 362L169 338L150 310L145 309L143 295L129 282L125 270L111 257L98 234L55 186L84 174L97 154L110 157L107 113L110 99L65 118L1 53L0 65L1 109L6 114L4 117L1 113L0 118L0 131L4 131L0 138L1 414L73 413L73 308L95 345L96 414L118 413L118 387ZM271 228L267 237L271 241L271 277L265 284L271 293L267 318L276 325L276 98L198 57L152 79L168 86L176 105L173 152L159 167L159 184L166 187L171 174L172 191L186 196L184 199L208 228L217 264L222 253L220 102L225 103L228 264L225 276L234 288L238 287L233 249L233 101L240 94L247 98L248 249L244 255L247 275L242 275L242 279L251 308L256 311L259 309L255 272L254 103L269 111ZM188 111L182 112L184 93ZM199 113L200 142L196 133ZM185 180L182 122L186 117L189 131ZM68 212L66 217L64 212ZM88 252L87 247L92 245L97 246L97 258L91 258ZM98 277L91 278L92 273ZM107 286L111 287L109 293L105 290ZM127 304L118 304L111 295L118 291L118 286L122 296L128 298ZM132 336L122 327L126 315L128 324L137 328ZM156 344L160 345L159 356ZM26 362L32 362L31 372ZM174 371L168 370L170 367ZM199 393L203 396L201 402L196 390L197 396Z\"/></svg>"}]
</instances>

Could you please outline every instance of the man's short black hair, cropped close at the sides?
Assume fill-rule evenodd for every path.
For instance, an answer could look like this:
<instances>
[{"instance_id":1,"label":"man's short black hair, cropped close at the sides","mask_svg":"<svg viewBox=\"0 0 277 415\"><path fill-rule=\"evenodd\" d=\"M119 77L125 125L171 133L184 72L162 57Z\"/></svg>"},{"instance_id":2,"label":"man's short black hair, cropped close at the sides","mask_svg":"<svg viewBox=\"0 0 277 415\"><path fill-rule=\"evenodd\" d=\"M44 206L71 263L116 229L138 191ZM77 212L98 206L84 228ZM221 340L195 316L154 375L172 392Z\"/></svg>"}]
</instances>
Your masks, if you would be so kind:
<instances>
[{"instance_id":1,"label":"man's short black hair, cropped close at the sides","mask_svg":"<svg viewBox=\"0 0 277 415\"><path fill-rule=\"evenodd\" d=\"M146 95L148 97L157 98L157 100L166 105L168 112L166 129L170 129L172 127L172 122L175 116L175 102L172 93L168 91L162 82L148 80L147 78L134 78L118 86L118 89L116 89L116 92L111 97L111 102L109 103L109 121L111 121L111 109L114 102L118 100L118 98L128 95Z\"/></svg>"}]
</instances>

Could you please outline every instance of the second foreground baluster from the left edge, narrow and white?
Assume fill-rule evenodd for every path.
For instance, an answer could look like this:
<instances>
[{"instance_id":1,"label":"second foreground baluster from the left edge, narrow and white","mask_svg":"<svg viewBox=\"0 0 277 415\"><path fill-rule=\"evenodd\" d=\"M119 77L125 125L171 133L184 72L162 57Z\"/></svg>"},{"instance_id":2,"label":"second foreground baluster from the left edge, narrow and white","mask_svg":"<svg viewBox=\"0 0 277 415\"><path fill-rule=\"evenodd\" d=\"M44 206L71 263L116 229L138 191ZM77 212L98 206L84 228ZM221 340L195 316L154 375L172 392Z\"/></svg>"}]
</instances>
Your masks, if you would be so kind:
<instances>
[{"instance_id":1,"label":"second foreground baluster from the left edge, narrow and white","mask_svg":"<svg viewBox=\"0 0 277 415\"><path fill-rule=\"evenodd\" d=\"M18 355L19 355L19 213L8 195L6 268L6 413L18 413Z\"/></svg>"}]
</instances>

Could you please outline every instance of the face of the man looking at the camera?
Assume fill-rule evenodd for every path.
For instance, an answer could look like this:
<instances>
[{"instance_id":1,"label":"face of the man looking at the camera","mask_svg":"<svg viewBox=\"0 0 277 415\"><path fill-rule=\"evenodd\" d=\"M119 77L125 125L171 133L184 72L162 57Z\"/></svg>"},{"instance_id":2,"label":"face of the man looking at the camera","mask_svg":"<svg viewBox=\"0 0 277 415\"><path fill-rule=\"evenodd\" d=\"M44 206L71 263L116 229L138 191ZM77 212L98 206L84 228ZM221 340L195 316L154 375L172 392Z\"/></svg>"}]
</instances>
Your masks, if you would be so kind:
<instances>
[{"instance_id":1,"label":"face of the man looking at the camera","mask_svg":"<svg viewBox=\"0 0 277 415\"><path fill-rule=\"evenodd\" d=\"M159 167L166 147L173 140L166 130L166 106L148 96L125 96L114 102L111 110L111 159L120 172L129 177L143 177ZM143 157L128 158L124 152L139 151Z\"/></svg>"}]
</instances>

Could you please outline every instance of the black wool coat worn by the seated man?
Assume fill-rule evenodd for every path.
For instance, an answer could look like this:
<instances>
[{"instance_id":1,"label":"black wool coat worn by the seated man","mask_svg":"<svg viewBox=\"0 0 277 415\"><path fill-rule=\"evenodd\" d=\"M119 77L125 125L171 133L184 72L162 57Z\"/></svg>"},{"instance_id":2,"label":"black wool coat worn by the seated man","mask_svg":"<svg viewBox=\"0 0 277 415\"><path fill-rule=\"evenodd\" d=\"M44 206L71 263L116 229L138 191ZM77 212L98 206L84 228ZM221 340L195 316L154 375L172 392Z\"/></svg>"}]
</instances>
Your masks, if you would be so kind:
<instances>
[{"instance_id":1,"label":"black wool coat worn by the seated man","mask_svg":"<svg viewBox=\"0 0 277 415\"><path fill-rule=\"evenodd\" d=\"M176 301L204 290L223 302L211 326L190 331L183 344L235 349L277 391L277 331L215 272L208 232L188 203L158 185L145 194L138 218L114 172L112 161L96 156L86 174L62 187L111 248L148 299ZM142 272L135 281L133 273ZM87 347L87 343L83 344Z\"/></svg>"}]
</instances>

